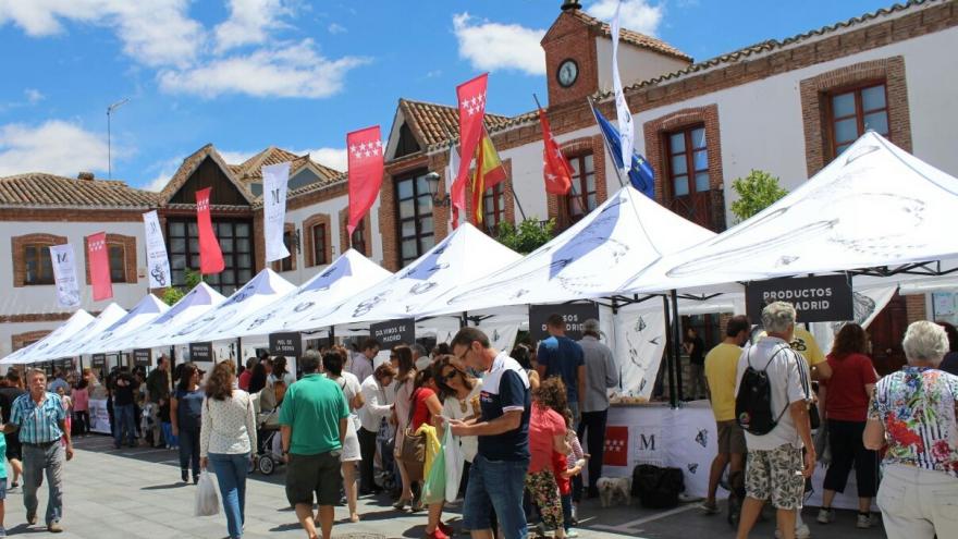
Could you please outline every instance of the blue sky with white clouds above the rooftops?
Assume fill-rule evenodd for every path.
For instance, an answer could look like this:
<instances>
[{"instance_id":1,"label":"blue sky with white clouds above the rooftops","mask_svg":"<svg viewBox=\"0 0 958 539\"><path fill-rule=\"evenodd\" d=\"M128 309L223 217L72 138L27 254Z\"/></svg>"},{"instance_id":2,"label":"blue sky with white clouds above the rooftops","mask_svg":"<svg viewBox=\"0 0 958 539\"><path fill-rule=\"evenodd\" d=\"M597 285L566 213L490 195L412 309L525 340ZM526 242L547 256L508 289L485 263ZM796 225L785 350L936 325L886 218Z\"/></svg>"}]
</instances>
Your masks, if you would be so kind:
<instances>
[{"instance_id":1,"label":"blue sky with white clouds above the rooftops","mask_svg":"<svg viewBox=\"0 0 958 539\"><path fill-rule=\"evenodd\" d=\"M582 0L610 20L616 0ZM345 169L346 133L389 136L401 97L452 105L490 73L487 111L546 95L539 40L561 0L0 0L0 176L79 171L159 191L212 143ZM707 60L891 0L623 0L623 27Z\"/></svg>"}]
</instances>

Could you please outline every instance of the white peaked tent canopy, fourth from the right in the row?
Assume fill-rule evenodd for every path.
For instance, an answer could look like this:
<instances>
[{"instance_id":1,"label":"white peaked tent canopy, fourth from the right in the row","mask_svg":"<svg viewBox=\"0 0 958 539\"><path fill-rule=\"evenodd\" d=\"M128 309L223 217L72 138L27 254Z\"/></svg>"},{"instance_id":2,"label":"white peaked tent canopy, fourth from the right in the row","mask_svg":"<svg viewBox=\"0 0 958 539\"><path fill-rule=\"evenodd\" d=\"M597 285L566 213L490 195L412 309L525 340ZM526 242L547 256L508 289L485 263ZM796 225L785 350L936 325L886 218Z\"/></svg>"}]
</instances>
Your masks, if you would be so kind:
<instances>
[{"instance_id":1,"label":"white peaked tent canopy, fourth from the right in the row","mask_svg":"<svg viewBox=\"0 0 958 539\"><path fill-rule=\"evenodd\" d=\"M355 249L348 249L296 290L236 320L228 336L314 330L317 327L309 321L312 316L328 313L330 306L340 305L391 275Z\"/></svg>"}]
</instances>

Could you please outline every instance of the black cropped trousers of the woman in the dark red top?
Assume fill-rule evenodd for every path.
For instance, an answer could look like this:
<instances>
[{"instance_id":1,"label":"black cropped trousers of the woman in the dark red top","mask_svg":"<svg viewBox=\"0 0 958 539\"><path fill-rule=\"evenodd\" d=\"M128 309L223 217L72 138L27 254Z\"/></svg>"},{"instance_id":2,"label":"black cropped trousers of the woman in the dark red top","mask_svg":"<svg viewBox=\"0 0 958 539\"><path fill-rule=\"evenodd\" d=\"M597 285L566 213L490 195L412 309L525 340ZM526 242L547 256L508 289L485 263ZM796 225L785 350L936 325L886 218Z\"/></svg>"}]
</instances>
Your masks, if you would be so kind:
<instances>
[{"instance_id":1,"label":"black cropped trousers of the woman in the dark red top","mask_svg":"<svg viewBox=\"0 0 958 539\"><path fill-rule=\"evenodd\" d=\"M864 449L864 421L828 419L828 445L832 464L825 471L824 488L845 492L848 474L855 467L859 498L874 498L879 492L879 454Z\"/></svg>"}]
</instances>

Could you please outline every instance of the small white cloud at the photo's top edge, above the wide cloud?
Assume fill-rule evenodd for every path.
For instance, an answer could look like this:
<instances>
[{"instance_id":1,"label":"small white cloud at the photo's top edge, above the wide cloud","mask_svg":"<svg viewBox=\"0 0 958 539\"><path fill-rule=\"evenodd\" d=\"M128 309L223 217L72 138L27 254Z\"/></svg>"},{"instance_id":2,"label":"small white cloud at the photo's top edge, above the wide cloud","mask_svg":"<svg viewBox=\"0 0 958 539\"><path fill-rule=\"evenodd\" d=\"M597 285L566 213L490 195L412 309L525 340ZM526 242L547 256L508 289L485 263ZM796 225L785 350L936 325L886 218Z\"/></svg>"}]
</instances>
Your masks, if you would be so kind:
<instances>
[{"instance_id":1,"label":"small white cloud at the photo's top edge, above the wide cloud","mask_svg":"<svg viewBox=\"0 0 958 539\"><path fill-rule=\"evenodd\" d=\"M229 0L230 19L214 29L217 52L262 44L269 30L283 27L280 17L292 14L281 0Z\"/></svg>"}]
</instances>

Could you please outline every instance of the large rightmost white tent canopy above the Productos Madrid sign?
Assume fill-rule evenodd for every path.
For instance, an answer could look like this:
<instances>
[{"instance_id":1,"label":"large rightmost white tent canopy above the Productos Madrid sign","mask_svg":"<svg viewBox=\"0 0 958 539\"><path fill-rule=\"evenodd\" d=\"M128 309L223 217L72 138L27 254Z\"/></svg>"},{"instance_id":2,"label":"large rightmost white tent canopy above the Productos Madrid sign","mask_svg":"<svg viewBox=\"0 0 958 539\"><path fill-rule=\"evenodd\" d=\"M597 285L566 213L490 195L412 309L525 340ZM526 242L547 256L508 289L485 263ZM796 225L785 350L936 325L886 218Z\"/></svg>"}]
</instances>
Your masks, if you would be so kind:
<instances>
[{"instance_id":1,"label":"large rightmost white tent canopy above the Productos Madrid sign","mask_svg":"<svg viewBox=\"0 0 958 539\"><path fill-rule=\"evenodd\" d=\"M660 292L948 260L958 179L868 132L786 197L621 287Z\"/></svg>"}]
</instances>

